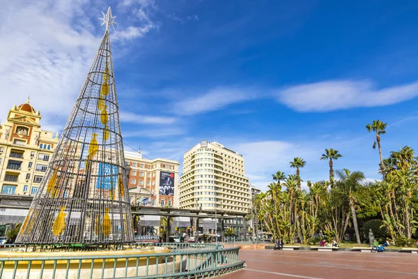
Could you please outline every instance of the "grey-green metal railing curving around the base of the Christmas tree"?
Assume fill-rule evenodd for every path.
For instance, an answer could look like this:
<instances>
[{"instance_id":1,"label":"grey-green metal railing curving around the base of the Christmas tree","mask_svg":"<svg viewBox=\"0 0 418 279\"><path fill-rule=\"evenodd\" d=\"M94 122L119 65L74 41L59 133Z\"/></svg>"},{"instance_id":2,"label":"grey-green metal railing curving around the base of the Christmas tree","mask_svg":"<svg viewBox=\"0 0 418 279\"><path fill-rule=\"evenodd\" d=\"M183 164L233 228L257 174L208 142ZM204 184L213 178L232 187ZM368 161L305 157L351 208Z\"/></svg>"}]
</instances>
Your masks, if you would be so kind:
<instances>
[{"instance_id":1,"label":"grey-green metal railing curving around the base of the Christmas tree","mask_svg":"<svg viewBox=\"0 0 418 279\"><path fill-rule=\"evenodd\" d=\"M150 246L167 247L171 252L26 257L28 252L24 257L0 257L0 278L209 278L245 264L238 258L240 248L216 244L134 243L131 248Z\"/></svg>"}]
</instances>

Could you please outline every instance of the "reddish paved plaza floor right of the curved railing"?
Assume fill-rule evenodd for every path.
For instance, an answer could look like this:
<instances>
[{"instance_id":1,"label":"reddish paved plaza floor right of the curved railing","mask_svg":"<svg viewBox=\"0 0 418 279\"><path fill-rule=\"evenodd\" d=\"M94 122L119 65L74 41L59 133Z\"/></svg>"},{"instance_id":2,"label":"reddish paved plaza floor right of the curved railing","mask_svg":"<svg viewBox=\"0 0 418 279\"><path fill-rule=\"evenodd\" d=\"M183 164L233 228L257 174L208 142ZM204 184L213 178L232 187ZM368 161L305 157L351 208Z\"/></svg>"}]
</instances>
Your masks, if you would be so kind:
<instances>
[{"instance_id":1,"label":"reddish paved plaza floor right of the curved railing","mask_svg":"<svg viewBox=\"0 0 418 279\"><path fill-rule=\"evenodd\" d=\"M418 278L418 254L240 250L247 268L222 279L247 278Z\"/></svg>"}]
</instances>

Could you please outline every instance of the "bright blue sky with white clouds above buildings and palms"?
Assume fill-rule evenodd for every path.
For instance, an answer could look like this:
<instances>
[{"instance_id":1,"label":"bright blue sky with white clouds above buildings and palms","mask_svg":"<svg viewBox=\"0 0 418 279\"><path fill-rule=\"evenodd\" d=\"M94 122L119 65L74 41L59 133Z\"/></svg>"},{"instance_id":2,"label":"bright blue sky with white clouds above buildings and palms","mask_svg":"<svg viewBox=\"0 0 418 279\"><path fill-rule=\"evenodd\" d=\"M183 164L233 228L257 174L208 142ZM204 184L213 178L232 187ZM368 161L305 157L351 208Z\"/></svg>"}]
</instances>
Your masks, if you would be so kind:
<instances>
[{"instance_id":1,"label":"bright blue sky with white clouds above buildings and palms","mask_svg":"<svg viewBox=\"0 0 418 279\"><path fill-rule=\"evenodd\" d=\"M0 116L31 95L49 130L62 130L103 27L111 33L125 143L183 161L202 139L242 153L265 189L288 162L302 179L336 169L379 179L365 126L389 124L384 156L416 148L416 1L12 1L0 11ZM129 147L125 146L129 151Z\"/></svg>"}]
</instances>

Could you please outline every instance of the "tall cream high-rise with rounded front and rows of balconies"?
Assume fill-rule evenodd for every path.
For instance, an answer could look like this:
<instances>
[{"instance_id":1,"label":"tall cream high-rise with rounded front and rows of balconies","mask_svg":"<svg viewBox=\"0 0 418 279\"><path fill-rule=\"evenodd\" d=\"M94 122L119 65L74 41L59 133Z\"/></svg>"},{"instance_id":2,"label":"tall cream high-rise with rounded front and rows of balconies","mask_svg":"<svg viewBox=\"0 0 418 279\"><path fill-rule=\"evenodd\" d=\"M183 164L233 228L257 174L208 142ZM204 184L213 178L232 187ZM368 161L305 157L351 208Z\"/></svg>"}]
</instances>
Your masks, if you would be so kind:
<instances>
[{"instance_id":1,"label":"tall cream high-rise with rounded front and rows of balconies","mask_svg":"<svg viewBox=\"0 0 418 279\"><path fill-rule=\"evenodd\" d=\"M249 212L244 158L217 142L201 141L184 156L180 208Z\"/></svg>"}]
</instances>

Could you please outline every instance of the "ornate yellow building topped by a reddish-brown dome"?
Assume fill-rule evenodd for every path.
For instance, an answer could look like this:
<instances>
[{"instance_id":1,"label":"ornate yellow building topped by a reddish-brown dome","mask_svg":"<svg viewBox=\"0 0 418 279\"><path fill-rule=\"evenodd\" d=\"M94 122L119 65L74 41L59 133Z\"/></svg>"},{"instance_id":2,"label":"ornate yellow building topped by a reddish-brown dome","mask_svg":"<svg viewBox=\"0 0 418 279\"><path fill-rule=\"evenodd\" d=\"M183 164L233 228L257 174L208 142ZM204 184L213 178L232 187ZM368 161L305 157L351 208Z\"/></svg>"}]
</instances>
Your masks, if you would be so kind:
<instances>
[{"instance_id":1,"label":"ornate yellow building topped by a reddish-brown dome","mask_svg":"<svg viewBox=\"0 0 418 279\"><path fill-rule=\"evenodd\" d=\"M0 123L0 193L35 195L58 143L58 133L40 128L40 112L24 103Z\"/></svg>"}]
</instances>

